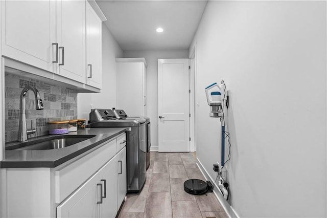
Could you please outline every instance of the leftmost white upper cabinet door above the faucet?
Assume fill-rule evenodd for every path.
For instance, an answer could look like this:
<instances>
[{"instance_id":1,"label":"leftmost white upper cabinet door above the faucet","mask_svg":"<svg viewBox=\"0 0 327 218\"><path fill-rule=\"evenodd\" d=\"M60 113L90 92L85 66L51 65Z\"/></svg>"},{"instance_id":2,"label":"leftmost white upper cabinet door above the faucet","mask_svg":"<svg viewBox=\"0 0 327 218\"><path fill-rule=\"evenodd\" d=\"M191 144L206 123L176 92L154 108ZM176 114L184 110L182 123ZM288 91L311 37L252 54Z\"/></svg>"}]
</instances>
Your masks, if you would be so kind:
<instances>
[{"instance_id":1,"label":"leftmost white upper cabinet door above the faucet","mask_svg":"<svg viewBox=\"0 0 327 218\"><path fill-rule=\"evenodd\" d=\"M2 55L55 70L56 2L1 1Z\"/></svg>"}]
</instances>

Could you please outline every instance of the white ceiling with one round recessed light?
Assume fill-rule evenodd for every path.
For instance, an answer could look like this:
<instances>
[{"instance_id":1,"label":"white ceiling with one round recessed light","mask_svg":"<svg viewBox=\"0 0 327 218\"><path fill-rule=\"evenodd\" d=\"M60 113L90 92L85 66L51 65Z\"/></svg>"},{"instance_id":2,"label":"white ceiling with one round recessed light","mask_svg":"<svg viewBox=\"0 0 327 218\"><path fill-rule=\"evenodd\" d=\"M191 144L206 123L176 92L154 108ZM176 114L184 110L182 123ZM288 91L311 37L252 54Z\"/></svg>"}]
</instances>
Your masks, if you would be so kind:
<instances>
[{"instance_id":1,"label":"white ceiling with one round recessed light","mask_svg":"<svg viewBox=\"0 0 327 218\"><path fill-rule=\"evenodd\" d=\"M96 1L126 50L187 50L207 1ZM164 32L157 33L161 27Z\"/></svg>"}]
</instances>

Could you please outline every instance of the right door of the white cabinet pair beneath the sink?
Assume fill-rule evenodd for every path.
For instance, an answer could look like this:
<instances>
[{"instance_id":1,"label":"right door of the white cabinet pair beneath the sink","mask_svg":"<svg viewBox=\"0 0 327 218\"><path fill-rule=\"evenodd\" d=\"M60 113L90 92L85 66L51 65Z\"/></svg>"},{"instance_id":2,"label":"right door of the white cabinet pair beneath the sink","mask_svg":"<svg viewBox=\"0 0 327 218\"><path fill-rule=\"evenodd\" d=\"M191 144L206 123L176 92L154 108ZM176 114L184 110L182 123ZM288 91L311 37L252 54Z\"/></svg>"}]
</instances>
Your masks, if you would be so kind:
<instances>
[{"instance_id":1,"label":"right door of the white cabinet pair beneath the sink","mask_svg":"<svg viewBox=\"0 0 327 218\"><path fill-rule=\"evenodd\" d=\"M103 184L103 203L100 204L100 217L115 217L117 213L117 165L112 158L99 171L100 183Z\"/></svg>"}]
</instances>

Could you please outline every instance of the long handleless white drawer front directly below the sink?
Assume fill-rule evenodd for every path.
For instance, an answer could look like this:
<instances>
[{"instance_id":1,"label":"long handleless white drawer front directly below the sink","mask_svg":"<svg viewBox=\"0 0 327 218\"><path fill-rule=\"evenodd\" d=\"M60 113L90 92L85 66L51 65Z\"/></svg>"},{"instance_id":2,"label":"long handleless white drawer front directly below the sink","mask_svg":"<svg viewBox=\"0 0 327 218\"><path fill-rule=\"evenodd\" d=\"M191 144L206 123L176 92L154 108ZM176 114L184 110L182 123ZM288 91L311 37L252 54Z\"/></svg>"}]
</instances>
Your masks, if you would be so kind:
<instances>
[{"instance_id":1,"label":"long handleless white drawer front directly below the sink","mask_svg":"<svg viewBox=\"0 0 327 218\"><path fill-rule=\"evenodd\" d=\"M69 194L94 175L116 154L116 139L92 151L75 162L55 171L56 200L62 202Z\"/></svg>"}]
</instances>

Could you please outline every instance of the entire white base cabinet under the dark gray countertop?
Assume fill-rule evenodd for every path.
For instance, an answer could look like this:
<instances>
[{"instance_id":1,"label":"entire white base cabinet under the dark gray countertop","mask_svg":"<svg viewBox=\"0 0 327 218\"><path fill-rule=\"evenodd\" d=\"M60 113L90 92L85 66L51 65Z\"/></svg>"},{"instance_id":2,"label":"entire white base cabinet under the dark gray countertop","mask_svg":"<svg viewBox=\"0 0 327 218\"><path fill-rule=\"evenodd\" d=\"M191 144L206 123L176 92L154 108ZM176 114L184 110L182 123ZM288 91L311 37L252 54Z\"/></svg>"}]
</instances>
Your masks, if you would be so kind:
<instances>
[{"instance_id":1,"label":"entire white base cabinet under the dark gray countertop","mask_svg":"<svg viewBox=\"0 0 327 218\"><path fill-rule=\"evenodd\" d=\"M115 217L126 195L125 140L56 168L2 168L1 217Z\"/></svg>"}]
</instances>

